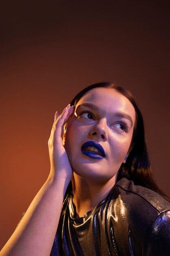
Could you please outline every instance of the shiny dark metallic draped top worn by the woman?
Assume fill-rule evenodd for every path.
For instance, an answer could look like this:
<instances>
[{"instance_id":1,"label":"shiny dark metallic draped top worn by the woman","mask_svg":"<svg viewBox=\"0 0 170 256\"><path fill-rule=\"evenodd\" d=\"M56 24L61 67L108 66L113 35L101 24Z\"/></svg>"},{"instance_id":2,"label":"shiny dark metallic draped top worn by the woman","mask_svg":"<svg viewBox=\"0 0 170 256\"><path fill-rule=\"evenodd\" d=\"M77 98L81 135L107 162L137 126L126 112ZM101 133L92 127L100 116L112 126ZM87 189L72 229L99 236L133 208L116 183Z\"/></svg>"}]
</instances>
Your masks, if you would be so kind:
<instances>
[{"instance_id":1,"label":"shiny dark metallic draped top worn by the woman","mask_svg":"<svg viewBox=\"0 0 170 256\"><path fill-rule=\"evenodd\" d=\"M74 213L66 195L51 256L170 256L170 203L126 178L84 217Z\"/></svg>"}]
</instances>

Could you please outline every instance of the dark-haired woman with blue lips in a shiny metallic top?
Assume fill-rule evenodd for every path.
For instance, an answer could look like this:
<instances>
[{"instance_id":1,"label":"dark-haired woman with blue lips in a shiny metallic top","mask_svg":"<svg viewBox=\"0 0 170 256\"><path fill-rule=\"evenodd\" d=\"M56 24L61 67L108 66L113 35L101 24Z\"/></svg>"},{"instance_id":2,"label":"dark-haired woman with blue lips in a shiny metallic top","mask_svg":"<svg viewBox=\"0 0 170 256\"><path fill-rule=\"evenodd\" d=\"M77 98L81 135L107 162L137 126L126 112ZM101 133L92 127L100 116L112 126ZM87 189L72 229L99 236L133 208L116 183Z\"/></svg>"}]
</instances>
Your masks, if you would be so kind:
<instances>
[{"instance_id":1,"label":"dark-haired woman with blue lips in a shiny metallic top","mask_svg":"<svg viewBox=\"0 0 170 256\"><path fill-rule=\"evenodd\" d=\"M50 175L0 255L170 255L170 203L127 90L77 94L55 113L49 155Z\"/></svg>"}]
</instances>

